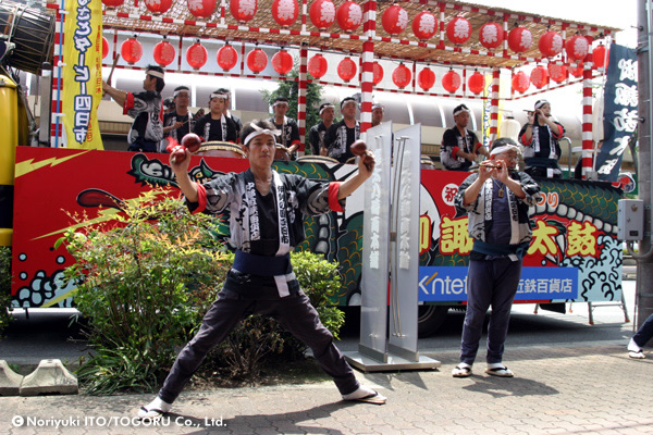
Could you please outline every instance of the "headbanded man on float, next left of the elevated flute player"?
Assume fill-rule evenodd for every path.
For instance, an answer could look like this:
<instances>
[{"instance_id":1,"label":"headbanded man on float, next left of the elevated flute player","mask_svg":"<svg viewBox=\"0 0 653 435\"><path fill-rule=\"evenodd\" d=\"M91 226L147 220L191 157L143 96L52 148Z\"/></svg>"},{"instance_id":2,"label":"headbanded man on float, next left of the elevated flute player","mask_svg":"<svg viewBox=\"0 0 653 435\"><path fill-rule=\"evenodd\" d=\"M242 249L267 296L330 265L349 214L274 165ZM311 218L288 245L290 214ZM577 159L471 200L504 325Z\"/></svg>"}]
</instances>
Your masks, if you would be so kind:
<instances>
[{"instance_id":1,"label":"headbanded man on float, next left of the elevated flute player","mask_svg":"<svg viewBox=\"0 0 653 435\"><path fill-rule=\"evenodd\" d=\"M459 104L454 108L456 125L444 132L440 146L440 161L445 170L468 171L479 154L490 156L476 133L467 129L469 120L470 110L467 105Z\"/></svg>"}]
</instances>

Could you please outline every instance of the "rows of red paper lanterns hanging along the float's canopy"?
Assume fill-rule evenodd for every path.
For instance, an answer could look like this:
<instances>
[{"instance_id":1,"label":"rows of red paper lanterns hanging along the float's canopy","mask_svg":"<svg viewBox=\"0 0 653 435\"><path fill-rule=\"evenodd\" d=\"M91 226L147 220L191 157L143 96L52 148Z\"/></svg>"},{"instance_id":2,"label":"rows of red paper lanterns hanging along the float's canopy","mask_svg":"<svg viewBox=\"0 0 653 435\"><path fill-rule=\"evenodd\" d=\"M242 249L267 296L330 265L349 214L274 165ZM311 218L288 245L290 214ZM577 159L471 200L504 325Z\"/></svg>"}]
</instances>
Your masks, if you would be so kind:
<instances>
[{"instance_id":1,"label":"rows of red paper lanterns hanging along the float's canopy","mask_svg":"<svg viewBox=\"0 0 653 435\"><path fill-rule=\"evenodd\" d=\"M186 0L188 10L194 16L209 17L215 12L217 0ZM170 10L172 0L144 0L146 8L152 14L164 13ZM124 0L102 0L102 3L110 8L116 8L124 3ZM246 23L256 15L258 9L258 0L231 0L230 11L238 23ZM271 13L275 22L282 27L293 25L299 14L297 0L274 0L272 3ZM311 2L309 16L311 23L320 30L324 30L338 22L340 27L347 33L357 29L362 23L364 14L359 4L354 1L346 0L337 9L332 0L316 0ZM381 16L383 29L392 35L401 35L407 28L409 23L408 13L402 5L394 3L387 7ZM426 41L432 38L438 32L438 18L429 10L422 11L415 15L412 20L412 33L417 38ZM453 16L446 25L446 37L455 45L467 42L471 37L471 24L464 16ZM509 33L504 32L498 23L485 23L479 29L479 42L489 50L502 47L504 40L507 39L509 49L516 53L521 53L529 50L533 42L532 33L525 26L516 25ZM530 83L537 88L542 88L549 84L549 80L563 83L570 75L575 77L582 76L582 61L589 53L590 39L581 35L574 35L567 40L564 40L557 32L547 30L544 33L538 44L538 48L542 57L553 58L562 53L565 48L566 58L569 62L576 62L577 67L567 69L564 64L550 63L547 66L537 66L530 74L530 77L525 73L516 73L513 77L513 89L519 92L525 92ZM106 38L102 40L102 59L108 55L109 44ZM607 57L609 51L600 44L594 49L593 66L607 66ZM125 40L121 46L121 54L128 64L134 64L140 60L143 55L143 47L136 38ZM161 66L168 66L174 61L175 50L172 45L163 40L155 46L155 61ZM207 62L208 53L199 41L190 46L186 52L188 64L198 70ZM218 51L218 64L224 71L233 69L237 64L237 51L229 44L223 46ZM267 66L268 58L261 49L255 49L247 55L247 66L255 73L263 71ZM308 62L308 72L315 78L321 78L328 70L328 62L321 55L317 54ZM280 75L287 74L293 67L292 55L284 49L281 49L272 57L272 66ZM345 58L337 65L338 76L349 82L356 76L356 63L349 58ZM393 71L393 83L404 88L408 86L412 78L412 72L401 64ZM378 85L383 79L383 67L378 63L373 63L372 82ZM435 82L435 74L428 67L420 71L417 76L417 84L424 90L432 88ZM483 91L485 85L484 75L475 72L468 79L468 88L472 94ZM442 85L448 92L455 92L461 84L458 73L449 71L442 77Z\"/></svg>"}]
</instances>

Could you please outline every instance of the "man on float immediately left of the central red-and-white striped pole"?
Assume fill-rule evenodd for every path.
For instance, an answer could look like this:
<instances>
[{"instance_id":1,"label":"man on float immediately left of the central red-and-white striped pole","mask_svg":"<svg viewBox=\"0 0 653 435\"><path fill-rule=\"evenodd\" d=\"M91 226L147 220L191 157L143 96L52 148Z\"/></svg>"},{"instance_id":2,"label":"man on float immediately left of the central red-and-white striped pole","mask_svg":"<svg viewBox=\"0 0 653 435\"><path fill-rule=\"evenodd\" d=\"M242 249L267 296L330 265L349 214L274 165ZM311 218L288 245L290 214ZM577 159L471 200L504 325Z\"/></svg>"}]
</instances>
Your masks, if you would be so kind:
<instances>
[{"instance_id":1,"label":"man on float immediately left of the central red-and-white striped pole","mask_svg":"<svg viewBox=\"0 0 653 435\"><path fill-rule=\"evenodd\" d=\"M353 97L341 101L343 120L332 124L324 135L326 154L341 163L354 158L352 144L360 139L360 123L356 120L358 103Z\"/></svg>"}]
</instances>

